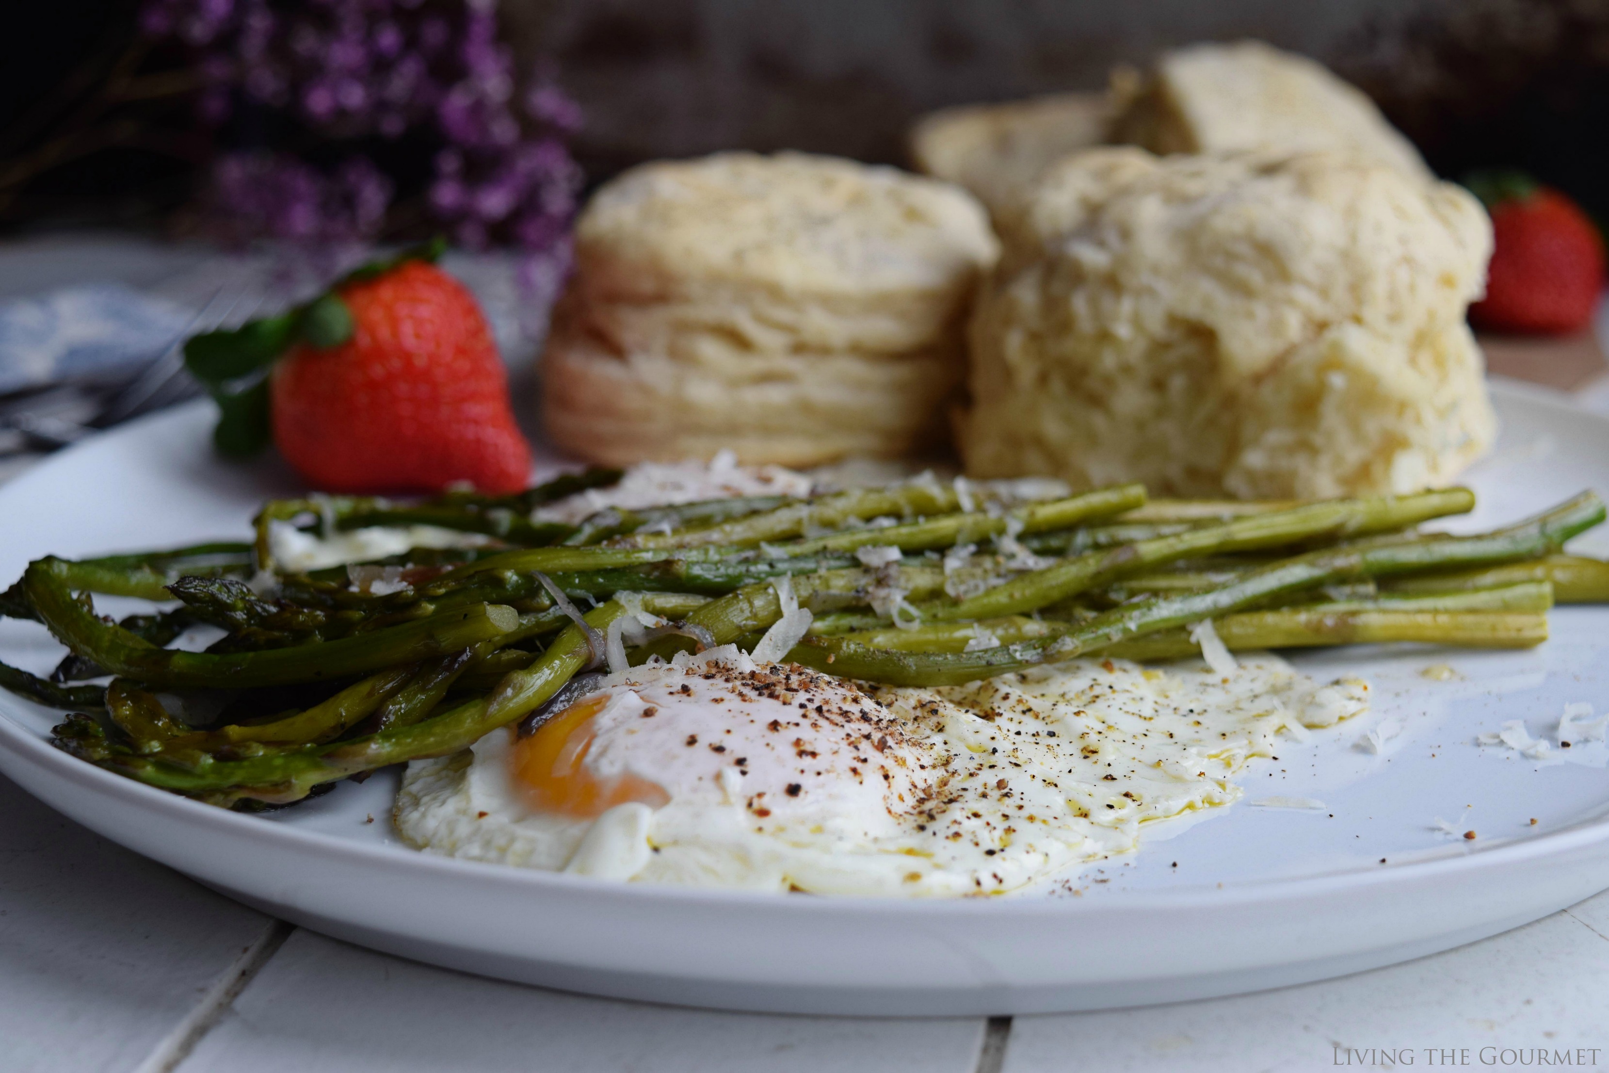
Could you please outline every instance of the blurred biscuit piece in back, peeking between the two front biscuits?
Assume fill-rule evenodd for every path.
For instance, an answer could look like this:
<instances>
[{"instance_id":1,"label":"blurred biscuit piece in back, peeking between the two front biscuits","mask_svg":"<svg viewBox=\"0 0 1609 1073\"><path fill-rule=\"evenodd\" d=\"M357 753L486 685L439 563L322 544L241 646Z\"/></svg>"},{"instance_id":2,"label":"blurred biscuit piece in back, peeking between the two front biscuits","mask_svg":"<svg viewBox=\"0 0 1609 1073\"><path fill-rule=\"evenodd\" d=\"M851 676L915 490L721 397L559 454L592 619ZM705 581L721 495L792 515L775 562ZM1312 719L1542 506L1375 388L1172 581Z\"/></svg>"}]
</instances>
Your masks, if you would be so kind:
<instances>
[{"instance_id":1,"label":"blurred biscuit piece in back, peeking between the two front biscuits","mask_svg":"<svg viewBox=\"0 0 1609 1073\"><path fill-rule=\"evenodd\" d=\"M1110 122L1105 93L946 108L911 129L911 159L922 172L965 187L999 217L1049 164L1105 140Z\"/></svg>"}]
</instances>

